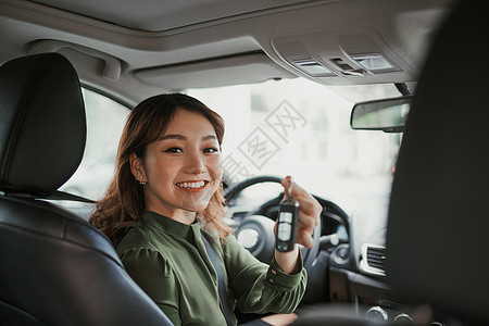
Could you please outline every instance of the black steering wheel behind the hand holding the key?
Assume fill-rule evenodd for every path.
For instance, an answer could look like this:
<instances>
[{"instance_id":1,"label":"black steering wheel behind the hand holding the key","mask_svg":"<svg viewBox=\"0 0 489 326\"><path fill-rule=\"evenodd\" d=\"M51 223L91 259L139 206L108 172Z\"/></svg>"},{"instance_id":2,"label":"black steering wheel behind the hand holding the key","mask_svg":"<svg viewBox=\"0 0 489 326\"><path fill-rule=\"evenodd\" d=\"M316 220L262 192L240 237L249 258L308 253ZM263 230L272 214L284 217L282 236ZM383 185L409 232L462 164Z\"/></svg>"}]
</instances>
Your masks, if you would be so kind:
<instances>
[{"instance_id":1,"label":"black steering wheel behind the hand holding the key","mask_svg":"<svg viewBox=\"0 0 489 326\"><path fill-rule=\"evenodd\" d=\"M263 183L280 184L281 179L275 176L259 176L246 179L224 190L223 196L228 203L233 205L234 199L248 187ZM256 259L262 262L269 263L275 250L275 221L272 220L272 213L278 213L278 204L283 198L283 193L278 197L263 203L258 210L249 212L242 217L236 230L238 241L248 249ZM273 215L273 214L272 214ZM309 269L319 251L319 238L322 221L314 228L313 239L314 246L305 248L300 246L304 268Z\"/></svg>"}]
</instances>

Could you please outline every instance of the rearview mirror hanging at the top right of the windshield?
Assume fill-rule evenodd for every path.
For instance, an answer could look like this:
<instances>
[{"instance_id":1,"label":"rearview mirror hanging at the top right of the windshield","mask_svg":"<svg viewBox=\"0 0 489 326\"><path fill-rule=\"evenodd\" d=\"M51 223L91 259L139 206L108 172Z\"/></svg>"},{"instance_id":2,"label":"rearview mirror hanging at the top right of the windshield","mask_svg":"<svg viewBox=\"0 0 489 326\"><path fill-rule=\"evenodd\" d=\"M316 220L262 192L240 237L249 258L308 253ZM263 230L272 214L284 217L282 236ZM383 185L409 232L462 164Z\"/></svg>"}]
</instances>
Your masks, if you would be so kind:
<instances>
[{"instance_id":1,"label":"rearview mirror hanging at the top right of the windshield","mask_svg":"<svg viewBox=\"0 0 489 326\"><path fill-rule=\"evenodd\" d=\"M351 112L352 129L404 131L413 97L401 97L356 103Z\"/></svg>"}]
</instances>

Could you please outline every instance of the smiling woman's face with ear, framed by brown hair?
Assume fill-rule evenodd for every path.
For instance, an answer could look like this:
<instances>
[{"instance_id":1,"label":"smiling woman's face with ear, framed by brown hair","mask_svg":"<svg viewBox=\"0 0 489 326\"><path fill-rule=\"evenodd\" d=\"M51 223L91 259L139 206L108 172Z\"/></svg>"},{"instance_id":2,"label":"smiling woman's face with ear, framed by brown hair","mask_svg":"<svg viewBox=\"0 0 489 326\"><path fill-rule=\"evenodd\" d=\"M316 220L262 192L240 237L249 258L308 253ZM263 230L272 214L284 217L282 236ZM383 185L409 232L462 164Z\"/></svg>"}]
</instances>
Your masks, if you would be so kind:
<instances>
[{"instance_id":1,"label":"smiling woman's face with ear, framed by brown hair","mask_svg":"<svg viewBox=\"0 0 489 326\"><path fill-rule=\"evenodd\" d=\"M147 183L147 210L192 223L220 186L220 145L209 120L178 110L162 137L148 145L143 160L133 154L131 168Z\"/></svg>"}]
</instances>

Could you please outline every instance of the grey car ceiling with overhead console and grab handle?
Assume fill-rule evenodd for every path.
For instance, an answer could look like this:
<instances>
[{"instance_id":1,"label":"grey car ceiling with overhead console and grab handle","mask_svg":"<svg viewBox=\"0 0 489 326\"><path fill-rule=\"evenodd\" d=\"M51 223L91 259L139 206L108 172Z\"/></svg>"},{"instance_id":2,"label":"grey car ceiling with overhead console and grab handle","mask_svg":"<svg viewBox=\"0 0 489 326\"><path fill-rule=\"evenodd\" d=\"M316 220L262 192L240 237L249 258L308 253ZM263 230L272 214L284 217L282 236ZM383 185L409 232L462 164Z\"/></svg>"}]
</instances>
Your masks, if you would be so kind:
<instances>
[{"instance_id":1,"label":"grey car ceiling with overhead console and grab handle","mask_svg":"<svg viewBox=\"0 0 489 326\"><path fill-rule=\"evenodd\" d=\"M128 104L297 76L325 85L413 82L451 3L0 0L0 62L57 51L84 85ZM369 53L391 67L369 71L352 59ZM311 62L328 72L308 72Z\"/></svg>"}]
</instances>

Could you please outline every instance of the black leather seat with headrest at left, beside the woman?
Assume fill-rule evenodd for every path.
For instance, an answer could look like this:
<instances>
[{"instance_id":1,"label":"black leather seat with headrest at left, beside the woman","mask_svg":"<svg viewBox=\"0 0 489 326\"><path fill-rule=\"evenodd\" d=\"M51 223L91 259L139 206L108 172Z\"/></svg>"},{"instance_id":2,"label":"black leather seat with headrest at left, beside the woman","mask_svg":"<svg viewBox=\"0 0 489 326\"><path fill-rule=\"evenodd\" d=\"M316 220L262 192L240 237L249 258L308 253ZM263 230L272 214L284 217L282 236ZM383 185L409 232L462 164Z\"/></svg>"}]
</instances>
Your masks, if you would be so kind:
<instances>
[{"instance_id":1,"label":"black leather seat with headrest at left, beside the woman","mask_svg":"<svg viewBox=\"0 0 489 326\"><path fill-rule=\"evenodd\" d=\"M0 67L0 324L171 325L110 241L47 201L85 149L80 85L60 54Z\"/></svg>"}]
</instances>

